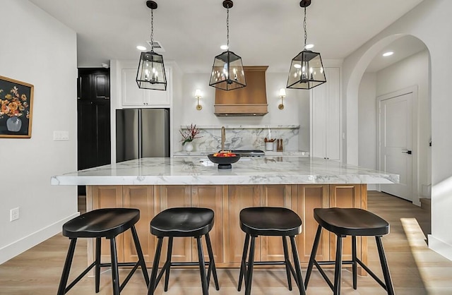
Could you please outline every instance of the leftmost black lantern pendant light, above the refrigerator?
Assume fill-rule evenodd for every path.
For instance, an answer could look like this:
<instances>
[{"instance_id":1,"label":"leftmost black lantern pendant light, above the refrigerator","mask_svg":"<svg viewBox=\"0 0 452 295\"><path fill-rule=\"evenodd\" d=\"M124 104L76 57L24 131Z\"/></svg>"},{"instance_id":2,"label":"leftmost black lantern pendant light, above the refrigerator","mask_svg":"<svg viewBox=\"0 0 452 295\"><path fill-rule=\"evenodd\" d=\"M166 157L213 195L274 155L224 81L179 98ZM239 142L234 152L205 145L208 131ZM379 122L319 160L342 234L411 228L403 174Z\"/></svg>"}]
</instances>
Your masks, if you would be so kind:
<instances>
[{"instance_id":1,"label":"leftmost black lantern pendant light, above the refrigerator","mask_svg":"<svg viewBox=\"0 0 452 295\"><path fill-rule=\"evenodd\" d=\"M154 9L157 9L155 1L146 1L150 8L150 52L141 52L136 83L138 88L167 90L167 77L163 56L154 52Z\"/></svg>"}]
</instances>

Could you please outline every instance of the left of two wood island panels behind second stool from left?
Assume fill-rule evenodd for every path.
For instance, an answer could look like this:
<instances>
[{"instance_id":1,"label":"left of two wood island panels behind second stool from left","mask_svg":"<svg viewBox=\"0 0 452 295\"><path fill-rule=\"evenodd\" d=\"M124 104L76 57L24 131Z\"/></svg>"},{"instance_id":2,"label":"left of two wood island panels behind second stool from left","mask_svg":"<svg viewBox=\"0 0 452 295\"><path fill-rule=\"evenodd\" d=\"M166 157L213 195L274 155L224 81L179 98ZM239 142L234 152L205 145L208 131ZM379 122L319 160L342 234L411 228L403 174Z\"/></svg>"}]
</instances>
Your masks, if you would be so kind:
<instances>
[{"instance_id":1,"label":"left of two wood island panels behind second stool from left","mask_svg":"<svg viewBox=\"0 0 452 295\"><path fill-rule=\"evenodd\" d=\"M160 186L160 211L171 207L190 207L191 187L190 186ZM191 261L191 239L174 238L172 244L172 261ZM160 263L164 263L167 258L168 238L164 239Z\"/></svg>"}]
</instances>

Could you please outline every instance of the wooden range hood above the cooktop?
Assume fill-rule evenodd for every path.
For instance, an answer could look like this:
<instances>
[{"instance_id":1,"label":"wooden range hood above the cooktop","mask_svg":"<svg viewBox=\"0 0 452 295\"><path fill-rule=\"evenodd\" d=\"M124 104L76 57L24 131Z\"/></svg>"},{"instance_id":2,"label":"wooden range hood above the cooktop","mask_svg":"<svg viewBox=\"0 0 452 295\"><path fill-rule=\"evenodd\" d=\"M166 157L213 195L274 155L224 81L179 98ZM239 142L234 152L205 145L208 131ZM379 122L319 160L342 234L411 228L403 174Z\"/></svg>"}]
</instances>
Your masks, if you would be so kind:
<instances>
[{"instance_id":1,"label":"wooden range hood above the cooktop","mask_svg":"<svg viewBox=\"0 0 452 295\"><path fill-rule=\"evenodd\" d=\"M216 116L264 116L268 113L266 70L268 66L244 66L246 87L215 90Z\"/></svg>"}]
</instances>

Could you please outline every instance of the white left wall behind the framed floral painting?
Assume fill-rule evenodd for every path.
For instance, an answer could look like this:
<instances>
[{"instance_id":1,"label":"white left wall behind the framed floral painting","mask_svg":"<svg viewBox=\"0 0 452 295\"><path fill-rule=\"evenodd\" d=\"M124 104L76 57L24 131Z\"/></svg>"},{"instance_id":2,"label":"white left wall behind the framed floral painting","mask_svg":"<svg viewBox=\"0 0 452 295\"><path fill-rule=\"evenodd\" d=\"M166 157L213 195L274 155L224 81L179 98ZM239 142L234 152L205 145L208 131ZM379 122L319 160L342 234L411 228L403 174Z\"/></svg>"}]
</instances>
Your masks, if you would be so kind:
<instances>
[{"instance_id":1,"label":"white left wall behind the framed floral painting","mask_svg":"<svg viewBox=\"0 0 452 295\"><path fill-rule=\"evenodd\" d=\"M0 1L0 76L35 86L30 139L0 138L0 263L61 231L77 214L75 186L50 177L76 170L76 33L26 0ZM70 140L54 141L53 131ZM11 208L20 219L10 222Z\"/></svg>"}]
</instances>

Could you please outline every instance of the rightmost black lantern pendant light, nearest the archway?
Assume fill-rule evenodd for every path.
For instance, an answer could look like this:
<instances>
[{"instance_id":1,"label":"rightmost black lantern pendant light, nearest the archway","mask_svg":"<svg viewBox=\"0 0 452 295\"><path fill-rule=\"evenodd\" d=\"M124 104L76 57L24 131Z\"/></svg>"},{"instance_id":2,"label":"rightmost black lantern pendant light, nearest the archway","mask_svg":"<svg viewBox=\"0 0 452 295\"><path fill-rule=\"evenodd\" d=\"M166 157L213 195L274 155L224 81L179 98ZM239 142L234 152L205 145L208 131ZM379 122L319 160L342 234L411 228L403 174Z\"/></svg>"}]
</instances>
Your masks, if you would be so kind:
<instances>
[{"instance_id":1,"label":"rightmost black lantern pendant light, nearest the archway","mask_svg":"<svg viewBox=\"0 0 452 295\"><path fill-rule=\"evenodd\" d=\"M304 47L303 51L292 59L289 78L287 78L287 88L311 89L326 82L319 52L311 52L306 49L308 37L306 30L306 8L309 4L311 4L311 0L302 0L299 3L299 6L304 8Z\"/></svg>"}]
</instances>

